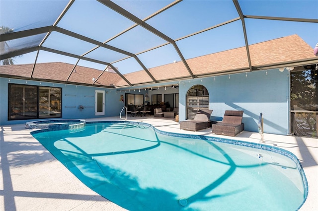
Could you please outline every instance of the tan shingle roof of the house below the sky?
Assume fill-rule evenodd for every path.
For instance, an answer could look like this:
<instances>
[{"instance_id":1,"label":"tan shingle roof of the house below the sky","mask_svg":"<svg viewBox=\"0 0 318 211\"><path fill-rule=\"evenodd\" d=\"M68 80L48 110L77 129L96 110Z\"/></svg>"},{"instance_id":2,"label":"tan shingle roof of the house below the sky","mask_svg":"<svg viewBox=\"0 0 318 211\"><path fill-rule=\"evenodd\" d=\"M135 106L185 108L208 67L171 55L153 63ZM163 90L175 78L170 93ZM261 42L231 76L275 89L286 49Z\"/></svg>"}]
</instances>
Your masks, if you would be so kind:
<instances>
[{"instance_id":1,"label":"tan shingle roof of the house below the sky","mask_svg":"<svg viewBox=\"0 0 318 211\"><path fill-rule=\"evenodd\" d=\"M253 67L268 67L277 64L292 64L297 61L310 62L317 60L313 48L298 35L291 35L249 46L251 64ZM213 73L229 73L231 70L248 70L246 48L236 48L201 57L188 59L187 63L196 76ZM312 62L313 63L313 62ZM0 67L0 74L31 78L31 64L8 65ZM101 70L76 66L66 63L37 63L32 75L33 79L47 79L53 81L68 81L79 84L93 84L92 78L98 78ZM182 62L167 64L151 68L150 73L158 81L180 80L189 78L189 72ZM69 77L70 75L70 77ZM68 78L69 77L69 78ZM153 83L151 77L144 71L124 74L132 84ZM96 80L95 85L116 87L127 86L128 83L117 73L104 71Z\"/></svg>"}]
</instances>

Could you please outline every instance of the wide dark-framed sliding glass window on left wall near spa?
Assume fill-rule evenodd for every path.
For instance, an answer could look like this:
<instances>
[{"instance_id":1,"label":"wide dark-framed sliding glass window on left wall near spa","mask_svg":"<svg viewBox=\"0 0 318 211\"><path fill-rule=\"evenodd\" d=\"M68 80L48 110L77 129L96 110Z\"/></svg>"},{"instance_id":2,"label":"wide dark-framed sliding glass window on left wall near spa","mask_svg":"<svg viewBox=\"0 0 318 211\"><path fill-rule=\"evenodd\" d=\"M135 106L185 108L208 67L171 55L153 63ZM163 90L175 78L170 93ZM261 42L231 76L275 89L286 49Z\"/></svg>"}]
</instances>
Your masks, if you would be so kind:
<instances>
[{"instance_id":1,"label":"wide dark-framed sliding glass window on left wall near spa","mask_svg":"<svg viewBox=\"0 0 318 211\"><path fill-rule=\"evenodd\" d=\"M9 84L8 120L61 117L61 90Z\"/></svg>"}]
</instances>

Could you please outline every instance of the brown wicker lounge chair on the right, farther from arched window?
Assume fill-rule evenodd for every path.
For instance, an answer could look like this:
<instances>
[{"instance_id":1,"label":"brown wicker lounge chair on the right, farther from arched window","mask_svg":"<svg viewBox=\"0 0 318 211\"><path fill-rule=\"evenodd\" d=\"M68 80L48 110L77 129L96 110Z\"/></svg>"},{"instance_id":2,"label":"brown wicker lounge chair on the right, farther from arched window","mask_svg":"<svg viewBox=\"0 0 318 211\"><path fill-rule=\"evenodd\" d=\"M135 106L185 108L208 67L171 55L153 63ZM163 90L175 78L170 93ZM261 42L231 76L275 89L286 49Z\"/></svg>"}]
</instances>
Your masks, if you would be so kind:
<instances>
[{"instance_id":1,"label":"brown wicker lounge chair on the right, farther from arched window","mask_svg":"<svg viewBox=\"0 0 318 211\"><path fill-rule=\"evenodd\" d=\"M242 123L243 111L225 111L221 123L212 125L212 133L226 136L236 136L244 130Z\"/></svg>"}]
</instances>

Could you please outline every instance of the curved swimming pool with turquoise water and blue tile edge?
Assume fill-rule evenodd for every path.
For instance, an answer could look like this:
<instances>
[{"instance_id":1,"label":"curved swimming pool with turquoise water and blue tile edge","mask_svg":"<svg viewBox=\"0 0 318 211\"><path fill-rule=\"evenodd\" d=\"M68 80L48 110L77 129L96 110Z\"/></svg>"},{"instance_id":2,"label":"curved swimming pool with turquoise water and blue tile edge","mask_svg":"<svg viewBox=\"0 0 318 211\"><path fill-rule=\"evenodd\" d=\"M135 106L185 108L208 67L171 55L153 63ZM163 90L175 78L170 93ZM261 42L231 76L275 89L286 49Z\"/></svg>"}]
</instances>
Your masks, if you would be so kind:
<instances>
[{"instance_id":1,"label":"curved swimming pool with turquoise water and blue tile edge","mask_svg":"<svg viewBox=\"0 0 318 211\"><path fill-rule=\"evenodd\" d=\"M129 122L32 135L85 185L130 211L297 210L308 193L297 157L263 144Z\"/></svg>"}]
</instances>

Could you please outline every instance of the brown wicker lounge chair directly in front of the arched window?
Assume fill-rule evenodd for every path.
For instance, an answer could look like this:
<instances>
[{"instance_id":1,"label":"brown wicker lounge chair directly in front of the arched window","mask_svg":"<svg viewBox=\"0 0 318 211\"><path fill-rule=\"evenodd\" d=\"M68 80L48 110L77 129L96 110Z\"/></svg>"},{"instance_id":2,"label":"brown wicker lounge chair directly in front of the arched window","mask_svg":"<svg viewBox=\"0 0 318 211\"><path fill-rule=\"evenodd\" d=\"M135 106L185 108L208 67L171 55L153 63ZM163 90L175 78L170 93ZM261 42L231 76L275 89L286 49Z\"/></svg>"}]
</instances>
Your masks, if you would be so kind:
<instances>
[{"instance_id":1,"label":"brown wicker lounge chair directly in front of the arched window","mask_svg":"<svg viewBox=\"0 0 318 211\"><path fill-rule=\"evenodd\" d=\"M210 116L213 110L199 109L193 120L180 122L180 129L187 131L199 131L211 128Z\"/></svg>"}]
</instances>

